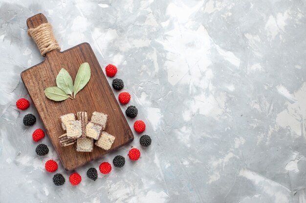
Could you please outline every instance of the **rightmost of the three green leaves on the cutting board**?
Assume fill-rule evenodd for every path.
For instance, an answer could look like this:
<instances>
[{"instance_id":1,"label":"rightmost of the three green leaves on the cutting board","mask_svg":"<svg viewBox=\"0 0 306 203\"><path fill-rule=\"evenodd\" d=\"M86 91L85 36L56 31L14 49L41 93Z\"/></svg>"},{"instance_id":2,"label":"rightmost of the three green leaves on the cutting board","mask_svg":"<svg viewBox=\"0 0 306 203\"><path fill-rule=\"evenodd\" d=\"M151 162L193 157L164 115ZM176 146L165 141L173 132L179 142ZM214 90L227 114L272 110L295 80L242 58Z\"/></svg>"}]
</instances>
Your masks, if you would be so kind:
<instances>
[{"instance_id":1,"label":"rightmost of the three green leaves on the cutting board","mask_svg":"<svg viewBox=\"0 0 306 203\"><path fill-rule=\"evenodd\" d=\"M87 62L82 63L77 73L77 76L75 77L75 80L74 80L74 87L73 87L74 98L75 98L75 95L85 87L89 79L90 79L89 64Z\"/></svg>"}]
</instances>

